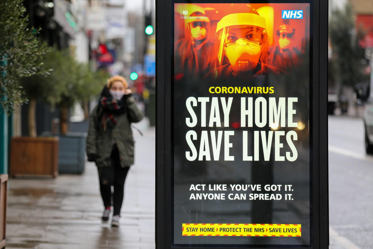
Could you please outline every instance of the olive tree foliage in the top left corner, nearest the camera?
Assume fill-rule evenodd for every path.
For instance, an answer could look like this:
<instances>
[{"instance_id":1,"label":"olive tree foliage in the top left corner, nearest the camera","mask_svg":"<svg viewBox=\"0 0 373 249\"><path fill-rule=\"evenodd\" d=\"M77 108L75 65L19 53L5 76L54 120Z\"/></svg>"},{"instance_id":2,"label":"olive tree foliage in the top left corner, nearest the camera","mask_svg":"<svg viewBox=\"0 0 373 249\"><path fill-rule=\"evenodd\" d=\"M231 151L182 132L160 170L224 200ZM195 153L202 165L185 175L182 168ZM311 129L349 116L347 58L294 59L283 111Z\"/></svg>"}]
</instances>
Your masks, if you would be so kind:
<instances>
[{"instance_id":1,"label":"olive tree foliage in the top left corner, nearest the camera","mask_svg":"<svg viewBox=\"0 0 373 249\"><path fill-rule=\"evenodd\" d=\"M36 36L40 29L28 28L22 0L0 1L0 27L0 106L9 114L27 100L19 78L48 72L40 70L48 46Z\"/></svg>"}]
</instances>

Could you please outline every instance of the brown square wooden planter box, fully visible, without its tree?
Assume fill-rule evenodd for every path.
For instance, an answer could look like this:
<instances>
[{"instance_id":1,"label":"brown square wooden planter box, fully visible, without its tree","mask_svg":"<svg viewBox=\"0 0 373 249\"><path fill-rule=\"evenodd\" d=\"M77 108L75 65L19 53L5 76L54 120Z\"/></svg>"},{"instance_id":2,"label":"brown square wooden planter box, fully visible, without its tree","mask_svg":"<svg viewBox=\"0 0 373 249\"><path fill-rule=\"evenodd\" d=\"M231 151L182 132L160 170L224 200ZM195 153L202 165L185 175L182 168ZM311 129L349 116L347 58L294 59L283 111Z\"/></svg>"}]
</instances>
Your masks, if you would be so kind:
<instances>
[{"instance_id":1,"label":"brown square wooden planter box, fully visible, without its tree","mask_svg":"<svg viewBox=\"0 0 373 249\"><path fill-rule=\"evenodd\" d=\"M13 137L10 141L10 175L58 175L58 137Z\"/></svg>"}]
</instances>

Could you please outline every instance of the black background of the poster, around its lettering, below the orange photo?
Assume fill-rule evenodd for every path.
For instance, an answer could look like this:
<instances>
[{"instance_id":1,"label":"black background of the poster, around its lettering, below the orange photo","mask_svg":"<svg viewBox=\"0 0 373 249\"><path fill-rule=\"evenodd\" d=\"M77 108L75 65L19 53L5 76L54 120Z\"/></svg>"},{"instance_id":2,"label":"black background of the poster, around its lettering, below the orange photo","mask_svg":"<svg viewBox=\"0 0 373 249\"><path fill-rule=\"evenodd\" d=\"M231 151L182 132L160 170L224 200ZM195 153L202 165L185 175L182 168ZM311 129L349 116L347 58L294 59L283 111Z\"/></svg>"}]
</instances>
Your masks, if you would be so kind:
<instances>
[{"instance_id":1,"label":"black background of the poster, around its lettering, below the orange photo","mask_svg":"<svg viewBox=\"0 0 373 249\"><path fill-rule=\"evenodd\" d=\"M211 4L216 5L216 4ZM274 6L276 4L272 4ZM287 8L283 4L283 9L302 9L301 7ZM310 6L310 5L308 5ZM282 8L282 7L281 7ZM280 15L275 13L275 15ZM175 15L175 19L176 19ZM311 129L310 129L310 7L304 9L304 18L308 18L307 26L302 31L304 34L303 53L299 55L301 63L292 67L285 73L265 74L260 77L248 79L242 78L217 78L212 79L206 75L196 75L190 72L184 72L183 77L176 77L178 71L178 57L175 52L174 57L174 81L173 81L173 243L174 245L310 245L311 237L311 216L312 216L312 196L311 196ZM180 30L172 31L175 34L175 44L177 44L177 34ZM276 29L276 27L274 27ZM215 30L213 29L213 32ZM179 33L178 33L179 32ZM308 35L308 36L307 36ZM274 35L275 37L275 35ZM214 39L214 37L212 37ZM275 38L274 38L275 39ZM176 45L175 45L176 46ZM175 47L175 49L177 49ZM203 54L203 56L208 56ZM274 87L272 94L238 94L238 93L210 93L210 87ZM209 97L210 101L206 104L206 123L207 127L201 127L200 103L193 107L198 122L195 127L188 127L185 118L190 118L186 109L186 99L188 97ZM220 97L233 97L231 112L229 115L229 127L208 127L210 117L211 97L219 98L220 118L223 122L223 111L220 105ZM241 122L241 97L253 97L254 101L258 97L298 97L295 103L294 115L295 122L304 124L303 129L297 127L278 127L276 130L266 125L263 128L237 127L235 124ZM287 102L287 100L286 100ZM255 115L254 113L254 120ZM268 115L268 110L267 110ZM268 117L267 117L268 119ZM213 160L213 154L210 153L211 161L188 161L185 152L190 151L185 138L189 130L197 133L197 140L194 140L194 146L197 152L200 148L200 137L202 131L234 131L234 136L230 137L232 148L229 154L234 156L234 161L224 161L224 134L222 146L220 148L219 161ZM263 153L260 153L259 161L242 161L242 133L248 131L248 152L253 155L253 133L254 131L285 131L294 130L297 132L298 140L294 141L297 148L298 158L294 162L275 161L273 149L271 150L270 161L263 160ZM273 136L274 140L274 136ZM211 138L209 137L211 142ZM286 140L282 137L283 148L281 155L291 151ZM273 144L272 144L272 147ZM210 144L210 150L211 144ZM259 143L261 151L261 138ZM261 192L247 191L246 200L229 200L228 193L244 193L236 191L226 191L226 200L189 200L191 193L200 193L198 191L189 191L191 184L261 184ZM250 193L272 193L265 192L264 185L281 184L282 190L285 184L291 184L294 191L292 196L294 200L248 200ZM205 190L203 193L224 193ZM275 192L285 194L285 192ZM191 237L182 236L182 223L258 223L258 224L301 224L302 236L298 237Z\"/></svg>"}]
</instances>

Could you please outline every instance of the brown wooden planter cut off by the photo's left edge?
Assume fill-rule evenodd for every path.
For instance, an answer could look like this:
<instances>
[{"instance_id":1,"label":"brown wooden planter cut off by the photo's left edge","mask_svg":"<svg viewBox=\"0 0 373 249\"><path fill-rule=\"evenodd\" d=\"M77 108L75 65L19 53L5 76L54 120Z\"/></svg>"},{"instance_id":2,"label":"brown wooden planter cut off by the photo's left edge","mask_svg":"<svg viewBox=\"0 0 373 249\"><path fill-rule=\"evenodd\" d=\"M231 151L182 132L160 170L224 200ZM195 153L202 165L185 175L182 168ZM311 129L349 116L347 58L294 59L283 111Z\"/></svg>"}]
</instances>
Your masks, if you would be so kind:
<instances>
[{"instance_id":1,"label":"brown wooden planter cut off by the photo's left edge","mask_svg":"<svg viewBox=\"0 0 373 249\"><path fill-rule=\"evenodd\" d=\"M5 248L8 175L0 174L0 248Z\"/></svg>"}]
</instances>

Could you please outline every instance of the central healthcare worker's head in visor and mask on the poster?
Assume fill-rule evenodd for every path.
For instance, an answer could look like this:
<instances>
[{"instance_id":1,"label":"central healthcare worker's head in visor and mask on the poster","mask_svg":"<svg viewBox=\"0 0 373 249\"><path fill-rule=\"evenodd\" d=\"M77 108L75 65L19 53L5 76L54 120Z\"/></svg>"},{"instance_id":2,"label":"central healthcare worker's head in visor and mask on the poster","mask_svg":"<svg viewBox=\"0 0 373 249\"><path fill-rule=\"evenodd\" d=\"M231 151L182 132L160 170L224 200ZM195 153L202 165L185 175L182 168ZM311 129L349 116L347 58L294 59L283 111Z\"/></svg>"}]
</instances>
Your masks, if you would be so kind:
<instances>
[{"instance_id":1,"label":"central healthcare worker's head in visor and mask on the poster","mask_svg":"<svg viewBox=\"0 0 373 249\"><path fill-rule=\"evenodd\" d=\"M213 79L250 79L268 67L266 18L250 5L236 4L217 23L211 70Z\"/></svg>"}]
</instances>

